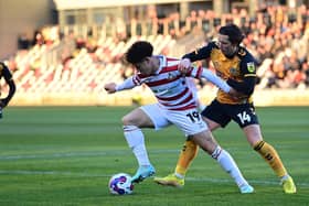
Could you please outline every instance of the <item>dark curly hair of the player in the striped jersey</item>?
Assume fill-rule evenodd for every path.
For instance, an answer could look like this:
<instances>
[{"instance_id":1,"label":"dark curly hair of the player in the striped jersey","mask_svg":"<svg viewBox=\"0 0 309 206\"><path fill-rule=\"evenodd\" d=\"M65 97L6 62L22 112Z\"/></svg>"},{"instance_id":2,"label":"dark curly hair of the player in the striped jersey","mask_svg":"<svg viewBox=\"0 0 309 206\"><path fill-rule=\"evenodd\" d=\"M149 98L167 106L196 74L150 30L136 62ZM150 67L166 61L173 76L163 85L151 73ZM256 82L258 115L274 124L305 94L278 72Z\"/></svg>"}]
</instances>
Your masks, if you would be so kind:
<instances>
[{"instance_id":1,"label":"dark curly hair of the player in the striped jersey","mask_svg":"<svg viewBox=\"0 0 309 206\"><path fill-rule=\"evenodd\" d=\"M152 56L153 46L146 41L134 43L126 53L126 61L131 64L142 62L146 57Z\"/></svg>"}]
</instances>

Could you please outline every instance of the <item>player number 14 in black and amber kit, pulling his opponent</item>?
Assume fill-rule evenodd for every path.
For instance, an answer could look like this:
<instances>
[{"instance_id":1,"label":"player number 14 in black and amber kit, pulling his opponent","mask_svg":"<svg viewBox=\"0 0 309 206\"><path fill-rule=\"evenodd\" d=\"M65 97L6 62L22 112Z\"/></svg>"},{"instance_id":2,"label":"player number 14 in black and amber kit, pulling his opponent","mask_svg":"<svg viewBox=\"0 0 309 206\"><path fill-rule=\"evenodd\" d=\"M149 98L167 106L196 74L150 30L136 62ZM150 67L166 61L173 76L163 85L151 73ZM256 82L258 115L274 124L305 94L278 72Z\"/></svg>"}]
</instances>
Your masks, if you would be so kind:
<instances>
[{"instance_id":1,"label":"player number 14 in black and amber kit, pulling his opponent","mask_svg":"<svg viewBox=\"0 0 309 206\"><path fill-rule=\"evenodd\" d=\"M296 186L288 174L276 149L267 143L262 135L258 118L255 113L252 95L256 83L256 61L253 55L239 44L244 35L235 24L222 26L217 41L210 42L192 53L185 54L179 64L179 69L185 72L192 62L212 61L216 74L227 80L227 84L239 93L238 98L228 96L222 90L216 98L202 111L202 117L213 131L224 128L231 120L235 121L245 133L248 143L269 164L281 180L285 193L296 193ZM156 177L161 185L181 187L184 185L185 173L195 158L198 145L187 140L180 153L174 173L166 177Z\"/></svg>"}]
</instances>

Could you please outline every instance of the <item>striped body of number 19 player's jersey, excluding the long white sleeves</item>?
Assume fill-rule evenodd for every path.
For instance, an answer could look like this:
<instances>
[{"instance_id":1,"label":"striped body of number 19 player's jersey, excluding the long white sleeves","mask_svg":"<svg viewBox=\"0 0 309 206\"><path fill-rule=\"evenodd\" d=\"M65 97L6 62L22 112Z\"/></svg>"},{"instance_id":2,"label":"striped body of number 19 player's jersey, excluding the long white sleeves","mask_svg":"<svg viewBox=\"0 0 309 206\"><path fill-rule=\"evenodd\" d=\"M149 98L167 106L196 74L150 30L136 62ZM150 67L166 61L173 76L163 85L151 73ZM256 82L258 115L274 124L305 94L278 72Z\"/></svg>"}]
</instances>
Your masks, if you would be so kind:
<instances>
[{"instance_id":1,"label":"striped body of number 19 player's jersey, excluding the long white sleeves","mask_svg":"<svg viewBox=\"0 0 309 206\"><path fill-rule=\"evenodd\" d=\"M160 67L154 75L136 74L134 84L146 84L154 94L159 105L169 110L187 110L196 107L192 90L189 88L185 77L178 71L179 59L162 55ZM188 76L198 77L202 68L191 69Z\"/></svg>"}]
</instances>

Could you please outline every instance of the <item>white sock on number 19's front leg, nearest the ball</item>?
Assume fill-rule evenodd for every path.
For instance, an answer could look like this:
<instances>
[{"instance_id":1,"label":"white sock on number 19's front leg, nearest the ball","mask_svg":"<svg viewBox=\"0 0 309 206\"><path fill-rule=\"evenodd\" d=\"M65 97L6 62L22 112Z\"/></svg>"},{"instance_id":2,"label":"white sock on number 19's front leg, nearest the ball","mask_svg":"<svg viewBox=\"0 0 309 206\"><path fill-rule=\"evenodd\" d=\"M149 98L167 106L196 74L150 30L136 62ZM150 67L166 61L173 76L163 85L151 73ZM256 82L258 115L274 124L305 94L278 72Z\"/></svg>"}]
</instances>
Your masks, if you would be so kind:
<instances>
[{"instance_id":1,"label":"white sock on number 19's front leg, nearest the ball","mask_svg":"<svg viewBox=\"0 0 309 206\"><path fill-rule=\"evenodd\" d=\"M124 134L137 159L138 165L150 165L141 130L136 126L124 126Z\"/></svg>"}]
</instances>

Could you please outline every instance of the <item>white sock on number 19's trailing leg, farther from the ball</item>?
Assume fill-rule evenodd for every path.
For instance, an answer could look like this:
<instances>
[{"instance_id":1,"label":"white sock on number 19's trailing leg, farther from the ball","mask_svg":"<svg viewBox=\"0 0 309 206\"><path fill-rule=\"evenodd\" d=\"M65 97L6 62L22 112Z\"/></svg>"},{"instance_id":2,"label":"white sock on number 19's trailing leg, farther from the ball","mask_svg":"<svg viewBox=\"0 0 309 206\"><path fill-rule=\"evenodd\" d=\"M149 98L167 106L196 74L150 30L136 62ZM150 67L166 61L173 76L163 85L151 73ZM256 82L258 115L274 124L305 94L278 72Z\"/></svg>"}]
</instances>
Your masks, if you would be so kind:
<instances>
[{"instance_id":1,"label":"white sock on number 19's trailing leg, farther from the ball","mask_svg":"<svg viewBox=\"0 0 309 206\"><path fill-rule=\"evenodd\" d=\"M222 169L234 178L237 186L248 185L247 181L244 178L238 166L236 165L230 153L220 147L216 147L215 151L212 153L212 158L215 159Z\"/></svg>"}]
</instances>

